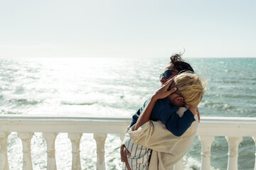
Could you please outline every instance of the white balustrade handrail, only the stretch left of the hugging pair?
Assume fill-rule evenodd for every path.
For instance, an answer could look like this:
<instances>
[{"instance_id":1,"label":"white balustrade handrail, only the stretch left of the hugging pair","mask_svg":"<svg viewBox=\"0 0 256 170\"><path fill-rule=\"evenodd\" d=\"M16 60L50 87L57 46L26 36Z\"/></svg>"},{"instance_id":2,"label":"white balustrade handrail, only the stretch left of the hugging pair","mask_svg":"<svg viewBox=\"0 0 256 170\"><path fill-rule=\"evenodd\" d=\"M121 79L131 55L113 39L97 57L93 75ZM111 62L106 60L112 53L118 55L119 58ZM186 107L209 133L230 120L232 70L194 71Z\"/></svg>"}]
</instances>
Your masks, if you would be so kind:
<instances>
[{"instance_id":1,"label":"white balustrade handrail, only the stretch left of the hugging pair","mask_svg":"<svg viewBox=\"0 0 256 170\"><path fill-rule=\"evenodd\" d=\"M2 132L76 132L124 134L130 118L60 115L1 115Z\"/></svg>"}]
</instances>

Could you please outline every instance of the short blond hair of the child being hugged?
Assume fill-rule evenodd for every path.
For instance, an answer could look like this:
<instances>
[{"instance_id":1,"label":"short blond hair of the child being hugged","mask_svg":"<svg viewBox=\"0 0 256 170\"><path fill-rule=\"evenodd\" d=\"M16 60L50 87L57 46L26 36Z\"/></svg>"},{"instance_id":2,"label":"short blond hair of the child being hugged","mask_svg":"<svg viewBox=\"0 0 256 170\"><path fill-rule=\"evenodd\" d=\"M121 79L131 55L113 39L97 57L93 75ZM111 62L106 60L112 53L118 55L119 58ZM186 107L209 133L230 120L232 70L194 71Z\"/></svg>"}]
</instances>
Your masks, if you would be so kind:
<instances>
[{"instance_id":1,"label":"short blond hair of the child being hugged","mask_svg":"<svg viewBox=\"0 0 256 170\"><path fill-rule=\"evenodd\" d=\"M176 86L174 92L183 97L184 102L190 106L198 106L206 91L207 82L203 81L198 74L192 72L183 72L174 78L171 87Z\"/></svg>"}]
</instances>

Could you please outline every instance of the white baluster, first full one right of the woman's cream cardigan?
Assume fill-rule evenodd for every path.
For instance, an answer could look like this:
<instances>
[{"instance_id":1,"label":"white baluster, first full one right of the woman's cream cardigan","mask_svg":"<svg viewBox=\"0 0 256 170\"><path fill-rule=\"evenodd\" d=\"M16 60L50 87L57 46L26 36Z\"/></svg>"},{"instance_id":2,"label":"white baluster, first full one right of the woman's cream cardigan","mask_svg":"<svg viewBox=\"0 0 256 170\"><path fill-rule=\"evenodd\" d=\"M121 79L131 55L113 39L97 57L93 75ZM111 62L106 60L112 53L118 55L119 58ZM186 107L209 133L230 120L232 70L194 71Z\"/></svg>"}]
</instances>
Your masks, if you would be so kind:
<instances>
[{"instance_id":1,"label":"white baluster, first full one right of the woman's cream cardigan","mask_svg":"<svg viewBox=\"0 0 256 170\"><path fill-rule=\"evenodd\" d=\"M201 141L201 170L210 170L210 147L215 140L214 136L199 136Z\"/></svg>"}]
</instances>

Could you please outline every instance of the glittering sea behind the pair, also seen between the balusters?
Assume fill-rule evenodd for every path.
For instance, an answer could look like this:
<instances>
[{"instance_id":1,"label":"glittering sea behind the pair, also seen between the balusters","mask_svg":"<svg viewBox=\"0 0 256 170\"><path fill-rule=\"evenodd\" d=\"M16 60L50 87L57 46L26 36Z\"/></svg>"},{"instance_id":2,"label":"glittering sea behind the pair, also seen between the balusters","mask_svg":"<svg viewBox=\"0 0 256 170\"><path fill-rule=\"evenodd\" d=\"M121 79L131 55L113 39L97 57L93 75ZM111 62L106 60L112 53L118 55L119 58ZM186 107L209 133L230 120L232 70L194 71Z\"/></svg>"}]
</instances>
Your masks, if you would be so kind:
<instances>
[{"instance_id":1,"label":"glittering sea behind the pair, also seen between the balusters","mask_svg":"<svg viewBox=\"0 0 256 170\"><path fill-rule=\"evenodd\" d=\"M198 108L201 116L256 117L256 58L184 58L208 81ZM0 58L0 114L87 115L131 118L161 85L159 74L169 58ZM106 169L122 169L119 135L107 135ZM22 144L16 132L8 139L10 169L22 169ZM58 169L71 169L68 135L55 142ZM31 140L33 169L46 169L46 141L35 132ZM96 169L96 144L92 134L80 142L82 169ZM238 149L238 169L254 169L255 142L243 137ZM228 143L215 137L211 169L227 169ZM200 169L198 137L184 157L184 169Z\"/></svg>"}]
</instances>

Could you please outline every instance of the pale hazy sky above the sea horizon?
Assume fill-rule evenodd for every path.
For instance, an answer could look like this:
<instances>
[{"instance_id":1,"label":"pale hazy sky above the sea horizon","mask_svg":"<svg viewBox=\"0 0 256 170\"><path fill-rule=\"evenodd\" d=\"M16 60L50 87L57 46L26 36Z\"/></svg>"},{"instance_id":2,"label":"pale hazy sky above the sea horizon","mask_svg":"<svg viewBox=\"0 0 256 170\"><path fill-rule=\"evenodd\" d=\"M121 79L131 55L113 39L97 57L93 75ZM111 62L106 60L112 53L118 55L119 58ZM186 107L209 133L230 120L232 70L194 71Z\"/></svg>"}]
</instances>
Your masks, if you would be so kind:
<instances>
[{"instance_id":1,"label":"pale hazy sky above the sea horizon","mask_svg":"<svg viewBox=\"0 0 256 170\"><path fill-rule=\"evenodd\" d=\"M1 0L0 57L256 57L256 1Z\"/></svg>"}]
</instances>

